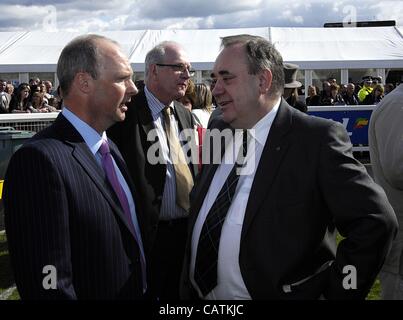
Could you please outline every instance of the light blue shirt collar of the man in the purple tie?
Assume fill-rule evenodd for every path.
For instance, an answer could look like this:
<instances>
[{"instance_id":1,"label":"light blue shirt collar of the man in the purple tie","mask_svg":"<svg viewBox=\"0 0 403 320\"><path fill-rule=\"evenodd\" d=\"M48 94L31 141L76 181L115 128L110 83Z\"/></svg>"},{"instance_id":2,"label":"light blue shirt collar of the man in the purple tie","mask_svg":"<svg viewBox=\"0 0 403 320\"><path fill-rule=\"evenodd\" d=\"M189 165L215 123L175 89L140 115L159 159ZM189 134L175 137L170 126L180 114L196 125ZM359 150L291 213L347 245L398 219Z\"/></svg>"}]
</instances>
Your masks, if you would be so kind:
<instances>
[{"instance_id":1,"label":"light blue shirt collar of the man in the purple tie","mask_svg":"<svg viewBox=\"0 0 403 320\"><path fill-rule=\"evenodd\" d=\"M102 144L102 140L108 141L105 131L102 133L102 135L99 135L99 133L96 132L91 126L70 111L68 106L65 105L63 107L62 114L80 133L93 155L98 152L98 149Z\"/></svg>"}]
</instances>

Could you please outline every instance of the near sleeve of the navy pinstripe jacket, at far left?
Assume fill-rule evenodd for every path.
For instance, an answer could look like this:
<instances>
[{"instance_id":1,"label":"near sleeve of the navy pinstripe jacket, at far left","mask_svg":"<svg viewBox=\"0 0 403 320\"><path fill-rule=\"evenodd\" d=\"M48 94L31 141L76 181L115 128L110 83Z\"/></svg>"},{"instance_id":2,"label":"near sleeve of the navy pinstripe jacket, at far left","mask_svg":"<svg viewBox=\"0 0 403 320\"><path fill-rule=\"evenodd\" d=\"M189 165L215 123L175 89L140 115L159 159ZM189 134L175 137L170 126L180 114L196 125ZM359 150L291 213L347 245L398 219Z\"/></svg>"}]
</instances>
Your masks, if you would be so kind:
<instances>
[{"instance_id":1,"label":"near sleeve of the navy pinstripe jacket, at far left","mask_svg":"<svg viewBox=\"0 0 403 320\"><path fill-rule=\"evenodd\" d=\"M43 148L44 149L44 148ZM23 147L5 177L5 223L15 281L22 299L75 299L66 191L50 157ZM56 268L56 289L45 266Z\"/></svg>"}]
</instances>

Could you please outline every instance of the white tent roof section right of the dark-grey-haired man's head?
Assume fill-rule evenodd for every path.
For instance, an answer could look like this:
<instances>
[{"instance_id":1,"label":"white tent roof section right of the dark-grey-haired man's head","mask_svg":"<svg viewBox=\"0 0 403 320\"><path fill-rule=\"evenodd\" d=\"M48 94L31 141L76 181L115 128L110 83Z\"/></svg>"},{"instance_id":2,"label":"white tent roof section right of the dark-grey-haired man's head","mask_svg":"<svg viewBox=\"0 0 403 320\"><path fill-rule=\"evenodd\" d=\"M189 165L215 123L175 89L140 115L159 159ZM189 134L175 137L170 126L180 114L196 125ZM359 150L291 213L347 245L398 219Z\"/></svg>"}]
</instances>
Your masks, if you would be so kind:
<instances>
[{"instance_id":1,"label":"white tent roof section right of the dark-grey-haired man's head","mask_svg":"<svg viewBox=\"0 0 403 320\"><path fill-rule=\"evenodd\" d=\"M303 69L403 67L403 37L395 27L271 29L284 60Z\"/></svg>"}]
</instances>

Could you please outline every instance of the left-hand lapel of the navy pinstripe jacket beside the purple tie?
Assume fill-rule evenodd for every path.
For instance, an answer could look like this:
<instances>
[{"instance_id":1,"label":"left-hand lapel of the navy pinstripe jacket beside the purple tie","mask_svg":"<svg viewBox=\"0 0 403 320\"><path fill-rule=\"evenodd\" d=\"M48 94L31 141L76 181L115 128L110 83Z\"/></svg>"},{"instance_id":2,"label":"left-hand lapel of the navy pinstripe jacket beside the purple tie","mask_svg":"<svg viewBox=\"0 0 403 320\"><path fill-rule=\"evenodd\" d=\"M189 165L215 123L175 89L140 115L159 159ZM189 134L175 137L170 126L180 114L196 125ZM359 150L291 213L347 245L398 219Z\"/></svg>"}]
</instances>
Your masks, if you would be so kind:
<instances>
[{"instance_id":1,"label":"left-hand lapel of the navy pinstripe jacket beside the purple tie","mask_svg":"<svg viewBox=\"0 0 403 320\"><path fill-rule=\"evenodd\" d=\"M84 139L62 114L58 116L57 122L58 130L64 137L65 142L73 148L73 158L81 165L84 172L94 182L95 186L112 207L113 211L116 212L117 216L122 220L126 228L134 237L132 228L129 226L122 209L118 205L117 197L114 196L113 190L106 180L106 175L103 169L96 161Z\"/></svg>"}]
</instances>

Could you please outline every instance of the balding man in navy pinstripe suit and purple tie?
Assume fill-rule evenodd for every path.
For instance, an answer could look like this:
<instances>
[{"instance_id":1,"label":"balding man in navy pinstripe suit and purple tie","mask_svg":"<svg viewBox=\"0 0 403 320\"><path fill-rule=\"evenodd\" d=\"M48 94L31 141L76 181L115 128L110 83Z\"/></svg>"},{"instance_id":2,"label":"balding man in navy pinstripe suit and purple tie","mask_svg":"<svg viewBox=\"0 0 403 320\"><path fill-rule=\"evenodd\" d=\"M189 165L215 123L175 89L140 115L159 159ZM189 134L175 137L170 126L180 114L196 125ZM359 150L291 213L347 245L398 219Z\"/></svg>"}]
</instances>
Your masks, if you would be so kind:
<instances>
[{"instance_id":1,"label":"balding man in navy pinstripe suit and purple tie","mask_svg":"<svg viewBox=\"0 0 403 320\"><path fill-rule=\"evenodd\" d=\"M105 134L137 93L133 71L117 43L86 35L63 49L57 75L62 113L14 154L5 177L18 291L22 299L143 298L148 209Z\"/></svg>"}]
</instances>

